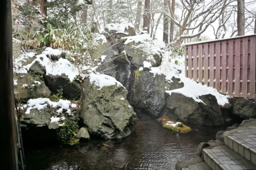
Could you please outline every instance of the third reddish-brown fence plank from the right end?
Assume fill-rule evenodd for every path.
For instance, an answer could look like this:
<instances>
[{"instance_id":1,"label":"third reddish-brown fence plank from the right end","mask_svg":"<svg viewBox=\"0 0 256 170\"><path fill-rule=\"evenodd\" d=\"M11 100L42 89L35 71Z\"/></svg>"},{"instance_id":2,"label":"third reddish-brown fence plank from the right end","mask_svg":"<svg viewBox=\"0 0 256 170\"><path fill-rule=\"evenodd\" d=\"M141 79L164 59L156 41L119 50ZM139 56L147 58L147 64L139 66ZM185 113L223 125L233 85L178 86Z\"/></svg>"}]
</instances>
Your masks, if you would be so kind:
<instances>
[{"instance_id":1,"label":"third reddish-brown fence plank from the right end","mask_svg":"<svg viewBox=\"0 0 256 170\"><path fill-rule=\"evenodd\" d=\"M236 39L236 55L235 55L235 94L233 96L240 96L240 38Z\"/></svg>"}]
</instances>

